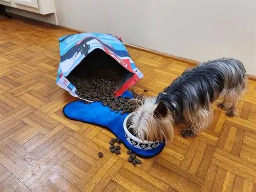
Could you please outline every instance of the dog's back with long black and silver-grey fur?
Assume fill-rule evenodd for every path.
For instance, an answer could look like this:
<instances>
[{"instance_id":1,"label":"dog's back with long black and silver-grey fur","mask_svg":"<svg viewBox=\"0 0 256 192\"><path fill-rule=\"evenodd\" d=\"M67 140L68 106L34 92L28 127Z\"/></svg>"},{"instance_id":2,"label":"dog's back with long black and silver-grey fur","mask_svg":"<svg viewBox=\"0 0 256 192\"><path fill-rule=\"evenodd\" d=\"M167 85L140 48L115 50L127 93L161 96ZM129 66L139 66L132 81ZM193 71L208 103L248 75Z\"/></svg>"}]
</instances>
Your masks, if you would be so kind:
<instances>
[{"instance_id":1,"label":"dog's back with long black and silver-grey fur","mask_svg":"<svg viewBox=\"0 0 256 192\"><path fill-rule=\"evenodd\" d=\"M244 89L245 73L242 62L237 59L210 60L184 71L166 91L168 94L175 93L184 97L194 95L198 97L200 103L209 96L210 102L213 102L222 92L237 87Z\"/></svg>"}]
</instances>

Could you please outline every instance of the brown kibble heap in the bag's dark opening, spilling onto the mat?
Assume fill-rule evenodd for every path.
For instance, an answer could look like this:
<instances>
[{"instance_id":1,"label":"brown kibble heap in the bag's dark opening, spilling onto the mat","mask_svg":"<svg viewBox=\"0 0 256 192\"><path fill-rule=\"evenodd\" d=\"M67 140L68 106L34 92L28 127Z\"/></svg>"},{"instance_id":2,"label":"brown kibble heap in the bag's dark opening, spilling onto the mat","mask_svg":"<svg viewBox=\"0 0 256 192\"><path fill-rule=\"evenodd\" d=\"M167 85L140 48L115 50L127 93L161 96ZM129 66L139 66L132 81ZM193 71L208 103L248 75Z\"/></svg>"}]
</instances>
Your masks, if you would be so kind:
<instances>
[{"instance_id":1,"label":"brown kibble heap in the bag's dark opening, spilling onto the mat","mask_svg":"<svg viewBox=\"0 0 256 192\"><path fill-rule=\"evenodd\" d=\"M75 86L76 94L80 98L101 101L102 105L109 107L111 111L120 111L124 114L124 109L129 113L134 111L132 106L127 106L127 101L131 98L115 98L114 93L122 86L127 73L129 72L125 68L116 65L114 59L105 54L92 52L67 76L67 79ZM88 101L84 103L91 104Z\"/></svg>"}]
</instances>

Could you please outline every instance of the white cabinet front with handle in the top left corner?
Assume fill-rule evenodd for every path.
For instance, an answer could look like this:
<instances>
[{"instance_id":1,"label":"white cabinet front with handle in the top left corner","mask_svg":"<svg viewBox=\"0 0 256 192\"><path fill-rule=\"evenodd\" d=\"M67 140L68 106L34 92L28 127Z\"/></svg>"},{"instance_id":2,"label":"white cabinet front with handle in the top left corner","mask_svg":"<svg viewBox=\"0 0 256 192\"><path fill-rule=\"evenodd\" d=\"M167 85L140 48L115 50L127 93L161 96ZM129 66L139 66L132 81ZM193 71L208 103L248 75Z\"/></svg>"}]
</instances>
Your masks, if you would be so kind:
<instances>
[{"instance_id":1,"label":"white cabinet front with handle in the top left corner","mask_svg":"<svg viewBox=\"0 0 256 192\"><path fill-rule=\"evenodd\" d=\"M0 4L41 15L55 13L54 0L0 0Z\"/></svg>"}]
</instances>

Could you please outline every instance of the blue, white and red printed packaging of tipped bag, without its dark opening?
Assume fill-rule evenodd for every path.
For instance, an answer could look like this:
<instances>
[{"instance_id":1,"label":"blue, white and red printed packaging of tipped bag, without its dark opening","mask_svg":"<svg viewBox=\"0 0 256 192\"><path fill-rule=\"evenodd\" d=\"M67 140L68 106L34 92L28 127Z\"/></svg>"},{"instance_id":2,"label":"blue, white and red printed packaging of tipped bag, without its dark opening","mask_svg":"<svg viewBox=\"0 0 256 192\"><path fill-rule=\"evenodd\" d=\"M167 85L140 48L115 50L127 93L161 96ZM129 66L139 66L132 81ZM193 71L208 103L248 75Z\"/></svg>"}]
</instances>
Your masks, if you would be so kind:
<instances>
[{"instance_id":1,"label":"blue, white and red printed packaging of tipped bag, without its dark opening","mask_svg":"<svg viewBox=\"0 0 256 192\"><path fill-rule=\"evenodd\" d=\"M122 85L116 90L115 95L117 97L121 96L143 77L119 36L103 33L80 33L59 38L60 63L56 78L57 85L68 91L72 96L78 97L75 86L66 77L79 65L83 58L95 49L101 49L114 58L127 72L132 73L132 76L124 79Z\"/></svg>"}]
</instances>

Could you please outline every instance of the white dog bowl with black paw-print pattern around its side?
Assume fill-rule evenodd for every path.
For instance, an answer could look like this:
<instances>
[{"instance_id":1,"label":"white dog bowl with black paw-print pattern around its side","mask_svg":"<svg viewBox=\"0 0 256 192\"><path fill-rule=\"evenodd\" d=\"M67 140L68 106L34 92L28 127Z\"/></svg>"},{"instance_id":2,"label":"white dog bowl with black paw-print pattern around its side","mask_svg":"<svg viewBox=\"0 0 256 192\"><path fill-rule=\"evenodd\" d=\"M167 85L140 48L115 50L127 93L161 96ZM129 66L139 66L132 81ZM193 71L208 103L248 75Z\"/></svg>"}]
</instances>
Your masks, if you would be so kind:
<instances>
[{"instance_id":1,"label":"white dog bowl with black paw-print pattern around its side","mask_svg":"<svg viewBox=\"0 0 256 192\"><path fill-rule=\"evenodd\" d=\"M160 142L159 141L145 141L135 137L131 134L126 126L127 120L133 115L134 113L130 113L123 121L123 129L125 132L126 140L134 147L139 148L140 150L153 150L154 148L158 147Z\"/></svg>"}]
</instances>

